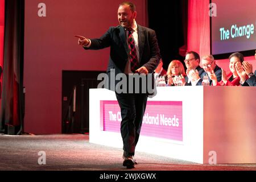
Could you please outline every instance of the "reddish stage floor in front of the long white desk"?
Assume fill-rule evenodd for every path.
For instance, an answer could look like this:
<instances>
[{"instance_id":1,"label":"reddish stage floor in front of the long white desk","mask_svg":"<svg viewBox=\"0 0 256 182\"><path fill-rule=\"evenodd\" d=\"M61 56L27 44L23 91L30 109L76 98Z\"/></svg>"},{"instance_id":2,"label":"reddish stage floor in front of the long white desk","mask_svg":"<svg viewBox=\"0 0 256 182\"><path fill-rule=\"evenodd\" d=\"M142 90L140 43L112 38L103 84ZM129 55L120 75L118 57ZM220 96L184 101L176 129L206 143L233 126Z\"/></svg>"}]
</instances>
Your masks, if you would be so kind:
<instances>
[{"instance_id":1,"label":"reddish stage floor in front of the long white desk","mask_svg":"<svg viewBox=\"0 0 256 182\"><path fill-rule=\"evenodd\" d=\"M89 135L0 135L1 171L256 171L256 164L206 165L146 152L135 159L139 164L126 169L120 148L89 143Z\"/></svg>"}]
</instances>

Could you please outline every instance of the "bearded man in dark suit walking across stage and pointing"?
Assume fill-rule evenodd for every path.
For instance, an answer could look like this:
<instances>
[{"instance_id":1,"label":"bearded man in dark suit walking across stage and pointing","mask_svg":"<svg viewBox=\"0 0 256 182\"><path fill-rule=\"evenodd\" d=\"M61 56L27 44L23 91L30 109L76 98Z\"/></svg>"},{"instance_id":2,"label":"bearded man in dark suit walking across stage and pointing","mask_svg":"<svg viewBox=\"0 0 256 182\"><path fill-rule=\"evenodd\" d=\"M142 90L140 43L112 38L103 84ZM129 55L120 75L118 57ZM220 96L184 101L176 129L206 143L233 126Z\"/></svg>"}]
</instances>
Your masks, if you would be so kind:
<instances>
[{"instance_id":1,"label":"bearded man in dark suit walking across stage and pointing","mask_svg":"<svg viewBox=\"0 0 256 182\"><path fill-rule=\"evenodd\" d=\"M87 39L80 35L76 35L76 37L79 38L79 45L85 49L110 47L108 73L114 69L115 75L123 74L127 77L125 80L129 80L128 77L130 76L138 76L138 74L139 76L143 74L151 75L154 80L152 73L158 66L160 59L158 41L154 30L136 23L136 15L137 12L133 3L123 2L118 7L119 26L110 27L99 39ZM123 166L134 168L134 164L137 164L134 159L135 146L139 139L147 97L150 92L142 92L143 88L141 86L145 86L143 82L135 81L131 83L129 80L127 90L133 88L131 90L134 91L134 87L136 89L139 86L141 88L140 92L120 93L120 90L116 89L119 82L121 81L115 79L114 90L122 115ZM154 84L152 79L151 83L147 83Z\"/></svg>"}]
</instances>

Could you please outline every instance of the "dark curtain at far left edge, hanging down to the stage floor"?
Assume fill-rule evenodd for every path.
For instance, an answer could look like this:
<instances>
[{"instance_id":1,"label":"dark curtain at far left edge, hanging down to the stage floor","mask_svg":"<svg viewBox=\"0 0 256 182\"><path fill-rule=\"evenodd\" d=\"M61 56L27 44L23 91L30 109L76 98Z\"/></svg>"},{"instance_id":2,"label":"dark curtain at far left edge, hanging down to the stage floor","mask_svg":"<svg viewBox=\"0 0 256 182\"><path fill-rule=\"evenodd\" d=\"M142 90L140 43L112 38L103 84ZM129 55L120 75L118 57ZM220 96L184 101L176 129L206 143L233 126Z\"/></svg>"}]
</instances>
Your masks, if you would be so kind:
<instances>
[{"instance_id":1,"label":"dark curtain at far left edge, hanging down to the stage floor","mask_svg":"<svg viewBox=\"0 0 256 182\"><path fill-rule=\"evenodd\" d=\"M23 126L24 0L5 1L5 40L0 129L20 134Z\"/></svg>"}]
</instances>

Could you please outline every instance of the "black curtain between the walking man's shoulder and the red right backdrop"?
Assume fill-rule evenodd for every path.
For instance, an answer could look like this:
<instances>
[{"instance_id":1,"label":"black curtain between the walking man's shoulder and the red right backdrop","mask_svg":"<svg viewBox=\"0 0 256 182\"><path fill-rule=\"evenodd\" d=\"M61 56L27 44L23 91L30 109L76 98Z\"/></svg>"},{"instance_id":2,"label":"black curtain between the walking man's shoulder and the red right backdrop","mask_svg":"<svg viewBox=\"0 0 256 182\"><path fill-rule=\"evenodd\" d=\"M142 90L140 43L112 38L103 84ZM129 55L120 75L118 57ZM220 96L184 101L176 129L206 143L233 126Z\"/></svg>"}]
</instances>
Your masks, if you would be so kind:
<instances>
[{"instance_id":1,"label":"black curtain between the walking man's shoulder and the red right backdrop","mask_svg":"<svg viewBox=\"0 0 256 182\"><path fill-rule=\"evenodd\" d=\"M187 43L187 0L148 0L148 27L156 32L163 67L167 70L171 60L183 62L180 48Z\"/></svg>"}]
</instances>

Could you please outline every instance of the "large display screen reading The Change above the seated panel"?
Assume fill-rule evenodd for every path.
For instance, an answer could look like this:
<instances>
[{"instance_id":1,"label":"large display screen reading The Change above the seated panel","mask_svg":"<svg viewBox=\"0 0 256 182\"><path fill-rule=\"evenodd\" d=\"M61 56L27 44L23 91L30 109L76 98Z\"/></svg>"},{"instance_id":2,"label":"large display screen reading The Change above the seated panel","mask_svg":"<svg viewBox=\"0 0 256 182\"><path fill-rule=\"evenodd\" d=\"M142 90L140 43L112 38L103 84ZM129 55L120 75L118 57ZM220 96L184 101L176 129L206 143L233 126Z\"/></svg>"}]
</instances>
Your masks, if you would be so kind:
<instances>
[{"instance_id":1,"label":"large display screen reading The Change above the seated panel","mask_svg":"<svg viewBox=\"0 0 256 182\"><path fill-rule=\"evenodd\" d=\"M211 3L212 55L233 52L247 52L247 56L254 55L256 1L212 0Z\"/></svg>"}]
</instances>

